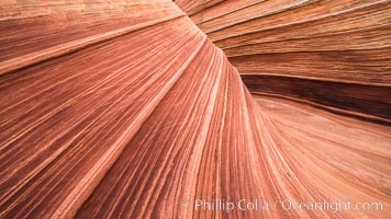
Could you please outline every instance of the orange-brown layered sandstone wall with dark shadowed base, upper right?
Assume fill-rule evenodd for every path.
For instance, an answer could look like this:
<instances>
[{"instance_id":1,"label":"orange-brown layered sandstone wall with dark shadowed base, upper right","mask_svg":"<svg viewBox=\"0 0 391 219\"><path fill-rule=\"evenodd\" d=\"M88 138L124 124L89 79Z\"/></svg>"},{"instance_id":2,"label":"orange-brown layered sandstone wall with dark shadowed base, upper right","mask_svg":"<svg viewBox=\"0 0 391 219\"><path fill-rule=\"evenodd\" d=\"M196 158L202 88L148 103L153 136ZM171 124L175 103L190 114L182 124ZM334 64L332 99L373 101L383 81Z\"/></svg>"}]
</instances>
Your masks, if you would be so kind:
<instances>
[{"instance_id":1,"label":"orange-brown layered sandstone wall with dark shadowed base, upper right","mask_svg":"<svg viewBox=\"0 0 391 219\"><path fill-rule=\"evenodd\" d=\"M391 1L175 2L250 92L390 124Z\"/></svg>"}]
</instances>

